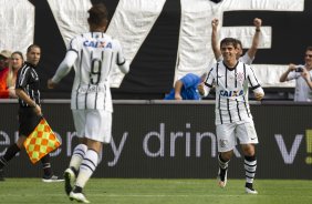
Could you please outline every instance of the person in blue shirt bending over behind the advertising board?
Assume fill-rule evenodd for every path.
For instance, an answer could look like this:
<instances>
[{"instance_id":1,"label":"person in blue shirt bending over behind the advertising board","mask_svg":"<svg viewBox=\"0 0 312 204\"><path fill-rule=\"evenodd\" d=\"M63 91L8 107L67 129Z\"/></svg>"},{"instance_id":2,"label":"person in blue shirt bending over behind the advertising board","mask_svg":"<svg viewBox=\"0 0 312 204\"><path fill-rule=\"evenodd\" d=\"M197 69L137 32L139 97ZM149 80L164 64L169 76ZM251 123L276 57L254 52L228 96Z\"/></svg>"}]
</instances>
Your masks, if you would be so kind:
<instances>
[{"instance_id":1,"label":"person in blue shirt bending over behind the advertising board","mask_svg":"<svg viewBox=\"0 0 312 204\"><path fill-rule=\"evenodd\" d=\"M175 88L166 94L164 100L200 100L198 85L205 80L206 74L198 76L194 73L188 73L177 80Z\"/></svg>"}]
</instances>

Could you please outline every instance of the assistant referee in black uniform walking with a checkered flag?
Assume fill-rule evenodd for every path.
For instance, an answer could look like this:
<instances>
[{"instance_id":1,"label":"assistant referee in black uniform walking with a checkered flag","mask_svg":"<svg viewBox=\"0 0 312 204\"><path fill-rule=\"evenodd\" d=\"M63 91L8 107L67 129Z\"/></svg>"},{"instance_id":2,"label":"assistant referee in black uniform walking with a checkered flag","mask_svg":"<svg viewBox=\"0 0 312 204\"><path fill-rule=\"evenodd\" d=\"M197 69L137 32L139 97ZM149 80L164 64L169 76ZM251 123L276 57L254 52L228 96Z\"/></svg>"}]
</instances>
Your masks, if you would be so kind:
<instances>
[{"instance_id":1,"label":"assistant referee in black uniform walking with a checkered flag","mask_svg":"<svg viewBox=\"0 0 312 204\"><path fill-rule=\"evenodd\" d=\"M41 49L37 44L31 44L27 50L27 61L19 70L15 82L15 94L19 98L19 139L8 147L6 154L0 157L0 181L3 181L3 167L22 149L27 136L39 124L42 112L40 104L40 79L35 71L41 57ZM50 155L41 159L43 167L43 182L60 182L58 176L53 175L50 163Z\"/></svg>"}]
</instances>

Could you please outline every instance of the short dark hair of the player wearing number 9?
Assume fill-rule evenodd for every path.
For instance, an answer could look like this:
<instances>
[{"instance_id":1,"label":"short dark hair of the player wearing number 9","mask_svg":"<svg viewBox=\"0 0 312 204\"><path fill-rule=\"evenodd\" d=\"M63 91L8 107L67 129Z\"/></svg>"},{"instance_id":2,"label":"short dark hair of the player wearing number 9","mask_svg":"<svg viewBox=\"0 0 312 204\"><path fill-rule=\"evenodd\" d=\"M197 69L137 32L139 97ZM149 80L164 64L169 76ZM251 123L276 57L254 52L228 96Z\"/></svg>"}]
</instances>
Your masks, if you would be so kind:
<instances>
[{"instance_id":1,"label":"short dark hair of the player wearing number 9","mask_svg":"<svg viewBox=\"0 0 312 204\"><path fill-rule=\"evenodd\" d=\"M104 3L94 4L89 11L87 22L95 26L106 26L108 20L108 11Z\"/></svg>"}]
</instances>

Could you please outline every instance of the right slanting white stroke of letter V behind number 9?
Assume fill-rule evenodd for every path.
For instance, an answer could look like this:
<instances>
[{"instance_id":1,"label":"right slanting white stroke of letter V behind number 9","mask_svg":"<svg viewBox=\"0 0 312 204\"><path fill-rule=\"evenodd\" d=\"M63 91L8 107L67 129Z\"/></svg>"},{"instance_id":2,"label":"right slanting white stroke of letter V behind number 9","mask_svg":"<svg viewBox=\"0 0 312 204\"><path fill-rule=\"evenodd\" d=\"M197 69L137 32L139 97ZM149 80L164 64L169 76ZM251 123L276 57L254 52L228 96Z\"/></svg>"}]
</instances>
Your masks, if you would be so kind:
<instances>
[{"instance_id":1,"label":"right slanting white stroke of letter V behind number 9","mask_svg":"<svg viewBox=\"0 0 312 204\"><path fill-rule=\"evenodd\" d=\"M125 58L132 62L155 21L159 17L166 0L119 0L107 33L121 41ZM113 69L111 86L118 88L124 74Z\"/></svg>"}]
</instances>

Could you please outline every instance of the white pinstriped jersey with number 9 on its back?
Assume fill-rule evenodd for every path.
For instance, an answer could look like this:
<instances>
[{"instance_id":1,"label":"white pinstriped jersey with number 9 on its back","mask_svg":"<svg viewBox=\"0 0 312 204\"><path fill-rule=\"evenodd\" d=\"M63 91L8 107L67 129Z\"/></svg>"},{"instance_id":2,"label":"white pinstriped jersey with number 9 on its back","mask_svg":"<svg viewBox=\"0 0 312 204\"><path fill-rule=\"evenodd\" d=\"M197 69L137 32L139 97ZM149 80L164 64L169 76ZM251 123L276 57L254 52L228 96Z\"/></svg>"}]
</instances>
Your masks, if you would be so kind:
<instances>
[{"instance_id":1,"label":"white pinstriped jersey with number 9 on its back","mask_svg":"<svg viewBox=\"0 0 312 204\"><path fill-rule=\"evenodd\" d=\"M87 32L72 39L66 57L52 81L59 82L73 65L72 109L97 109L113 112L110 73L117 64L128 72L119 42L103 32Z\"/></svg>"}]
</instances>

